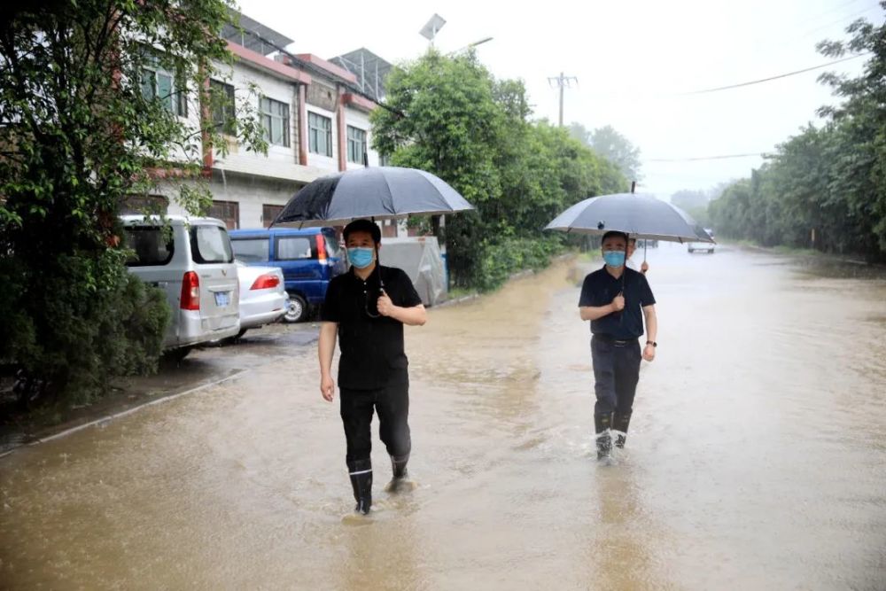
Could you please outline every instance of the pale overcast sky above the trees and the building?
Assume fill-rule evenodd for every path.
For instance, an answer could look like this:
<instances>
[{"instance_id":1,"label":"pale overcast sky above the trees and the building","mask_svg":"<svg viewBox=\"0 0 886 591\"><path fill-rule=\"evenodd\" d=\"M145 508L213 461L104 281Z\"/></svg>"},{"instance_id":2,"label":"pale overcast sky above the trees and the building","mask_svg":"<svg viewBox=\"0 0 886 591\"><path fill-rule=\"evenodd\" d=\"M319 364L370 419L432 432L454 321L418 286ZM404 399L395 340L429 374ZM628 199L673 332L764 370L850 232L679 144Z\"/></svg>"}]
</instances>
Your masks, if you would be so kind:
<instances>
[{"instance_id":1,"label":"pale overcast sky above the trees and the building","mask_svg":"<svg viewBox=\"0 0 886 591\"><path fill-rule=\"evenodd\" d=\"M830 61L821 39L843 39L865 17L882 23L875 0L637 0L571 3L478 0L294 3L240 0L249 17L289 36L288 48L322 58L366 47L392 63L417 58L419 29L434 12L447 24L436 45L456 51L486 37L478 57L498 78L520 78L534 116L557 120L548 77L578 78L567 89L564 121L611 125L641 149L641 190L667 198L750 174L759 157L656 162L772 151L834 102L819 70L742 89L710 89ZM857 73L859 58L830 71Z\"/></svg>"}]
</instances>

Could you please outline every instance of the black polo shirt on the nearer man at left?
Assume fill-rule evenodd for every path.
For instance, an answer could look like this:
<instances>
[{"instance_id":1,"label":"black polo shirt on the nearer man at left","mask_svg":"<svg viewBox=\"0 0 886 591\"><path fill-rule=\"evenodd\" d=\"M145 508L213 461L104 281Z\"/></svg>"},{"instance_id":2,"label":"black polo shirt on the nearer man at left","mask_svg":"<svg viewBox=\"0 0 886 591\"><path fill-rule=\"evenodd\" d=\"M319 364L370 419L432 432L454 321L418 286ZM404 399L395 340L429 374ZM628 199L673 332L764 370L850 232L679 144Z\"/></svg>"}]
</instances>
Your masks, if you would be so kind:
<instances>
[{"instance_id":1,"label":"black polo shirt on the nearer man at left","mask_svg":"<svg viewBox=\"0 0 886 591\"><path fill-rule=\"evenodd\" d=\"M399 268L378 266L363 281L352 267L330 281L321 320L338 323L338 385L342 388L375 390L408 381L403 323L369 315L378 314L379 273L394 306L415 307L422 303L409 276Z\"/></svg>"}]
</instances>

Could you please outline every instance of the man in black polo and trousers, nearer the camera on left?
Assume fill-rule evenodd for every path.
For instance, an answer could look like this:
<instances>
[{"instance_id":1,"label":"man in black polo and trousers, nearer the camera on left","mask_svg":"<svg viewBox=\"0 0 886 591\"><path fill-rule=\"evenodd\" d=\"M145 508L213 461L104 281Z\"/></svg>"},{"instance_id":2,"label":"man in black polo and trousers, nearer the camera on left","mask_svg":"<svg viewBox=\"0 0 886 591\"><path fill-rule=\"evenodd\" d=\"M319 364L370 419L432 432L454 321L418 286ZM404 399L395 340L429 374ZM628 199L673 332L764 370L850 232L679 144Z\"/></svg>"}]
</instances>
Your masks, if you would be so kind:
<instances>
[{"instance_id":1,"label":"man in black polo and trousers, nearer the camera on left","mask_svg":"<svg viewBox=\"0 0 886 591\"><path fill-rule=\"evenodd\" d=\"M379 432L391 455L392 489L407 476L409 438L408 360L403 350L403 324L426 320L422 299L399 268L377 264L381 231L374 222L356 220L344 231L351 268L330 281L320 328L320 391L332 401L335 381L332 355L338 338L338 388L341 420L347 441L346 462L354 487L355 510L372 505L373 409Z\"/></svg>"}]
</instances>

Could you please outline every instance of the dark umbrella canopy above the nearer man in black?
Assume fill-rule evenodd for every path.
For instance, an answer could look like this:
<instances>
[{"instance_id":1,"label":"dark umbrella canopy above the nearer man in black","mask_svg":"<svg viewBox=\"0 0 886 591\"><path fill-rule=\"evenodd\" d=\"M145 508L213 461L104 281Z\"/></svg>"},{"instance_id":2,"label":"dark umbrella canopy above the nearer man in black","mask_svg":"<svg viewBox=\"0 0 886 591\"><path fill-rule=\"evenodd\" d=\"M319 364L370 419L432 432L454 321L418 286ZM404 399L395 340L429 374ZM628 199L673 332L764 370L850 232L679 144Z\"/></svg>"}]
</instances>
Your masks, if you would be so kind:
<instances>
[{"instance_id":1,"label":"dark umbrella canopy above the nearer man in black","mask_svg":"<svg viewBox=\"0 0 886 591\"><path fill-rule=\"evenodd\" d=\"M375 167L324 176L305 185L272 224L283 228L340 226L352 220L394 220L473 209L437 176L416 168Z\"/></svg>"}]
</instances>

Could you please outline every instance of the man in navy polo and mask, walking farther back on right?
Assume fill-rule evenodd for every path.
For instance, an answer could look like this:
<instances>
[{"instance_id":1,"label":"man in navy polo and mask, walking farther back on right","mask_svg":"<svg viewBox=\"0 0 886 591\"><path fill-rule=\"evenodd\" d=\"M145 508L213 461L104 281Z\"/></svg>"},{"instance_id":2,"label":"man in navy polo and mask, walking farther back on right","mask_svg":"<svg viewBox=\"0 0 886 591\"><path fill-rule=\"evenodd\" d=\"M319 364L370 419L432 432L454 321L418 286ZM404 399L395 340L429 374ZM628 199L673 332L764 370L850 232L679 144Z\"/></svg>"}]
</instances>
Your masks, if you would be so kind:
<instances>
[{"instance_id":1,"label":"man in navy polo and mask, walking farther back on right","mask_svg":"<svg viewBox=\"0 0 886 591\"><path fill-rule=\"evenodd\" d=\"M582 320L591 321L591 359L594 362L594 425L597 459L608 460L612 433L624 447L631 423L633 395L640 379L640 362L656 357L656 299L641 273L625 267L627 235L607 232L602 239L606 264L585 277L579 298ZM648 332L642 349L643 320Z\"/></svg>"}]
</instances>

